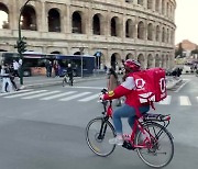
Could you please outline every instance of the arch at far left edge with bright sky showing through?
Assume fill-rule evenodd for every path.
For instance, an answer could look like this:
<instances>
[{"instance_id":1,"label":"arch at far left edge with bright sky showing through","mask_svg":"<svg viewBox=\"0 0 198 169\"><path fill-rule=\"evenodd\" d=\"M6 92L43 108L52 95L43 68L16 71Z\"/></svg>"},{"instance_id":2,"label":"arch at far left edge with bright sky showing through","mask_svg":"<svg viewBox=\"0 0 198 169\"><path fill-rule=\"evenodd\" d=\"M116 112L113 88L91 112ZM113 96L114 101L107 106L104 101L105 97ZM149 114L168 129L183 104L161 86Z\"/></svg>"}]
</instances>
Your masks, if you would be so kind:
<instances>
[{"instance_id":1,"label":"arch at far left edge with bright sky showing through","mask_svg":"<svg viewBox=\"0 0 198 169\"><path fill-rule=\"evenodd\" d=\"M0 15L3 16L0 19L0 29L9 29L9 9L4 3L0 2Z\"/></svg>"}]
</instances>

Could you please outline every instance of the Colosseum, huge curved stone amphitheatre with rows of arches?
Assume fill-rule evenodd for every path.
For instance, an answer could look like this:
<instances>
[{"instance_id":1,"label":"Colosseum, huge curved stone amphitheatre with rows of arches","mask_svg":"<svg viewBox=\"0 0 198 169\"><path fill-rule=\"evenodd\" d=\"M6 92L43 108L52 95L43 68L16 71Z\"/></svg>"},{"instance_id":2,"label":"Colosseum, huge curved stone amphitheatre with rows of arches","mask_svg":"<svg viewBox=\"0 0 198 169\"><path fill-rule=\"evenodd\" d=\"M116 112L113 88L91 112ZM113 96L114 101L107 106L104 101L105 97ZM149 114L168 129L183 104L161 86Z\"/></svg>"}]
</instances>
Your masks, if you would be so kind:
<instances>
[{"instance_id":1,"label":"Colosseum, huge curved stone amphitheatre with rows of arches","mask_svg":"<svg viewBox=\"0 0 198 169\"><path fill-rule=\"evenodd\" d=\"M28 49L95 55L116 67L138 59L142 67L174 67L175 0L0 0L0 50L14 52L19 36Z\"/></svg>"}]
</instances>

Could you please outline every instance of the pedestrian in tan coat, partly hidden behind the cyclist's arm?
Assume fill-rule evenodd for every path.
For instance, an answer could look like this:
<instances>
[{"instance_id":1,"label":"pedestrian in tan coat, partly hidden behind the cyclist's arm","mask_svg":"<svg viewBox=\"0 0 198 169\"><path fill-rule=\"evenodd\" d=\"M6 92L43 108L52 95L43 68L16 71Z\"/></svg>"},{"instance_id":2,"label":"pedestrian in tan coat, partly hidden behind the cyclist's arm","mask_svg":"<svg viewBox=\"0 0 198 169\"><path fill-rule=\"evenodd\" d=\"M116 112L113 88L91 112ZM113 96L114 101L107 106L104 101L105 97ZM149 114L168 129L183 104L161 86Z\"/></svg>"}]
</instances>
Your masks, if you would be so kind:
<instances>
[{"instance_id":1,"label":"pedestrian in tan coat, partly hidden behind the cyclist's arm","mask_svg":"<svg viewBox=\"0 0 198 169\"><path fill-rule=\"evenodd\" d=\"M107 88L108 91L114 90L120 84L118 74L114 71L114 69L111 67L108 72L108 80L107 80ZM117 106L121 106L121 98L117 99Z\"/></svg>"}]
</instances>

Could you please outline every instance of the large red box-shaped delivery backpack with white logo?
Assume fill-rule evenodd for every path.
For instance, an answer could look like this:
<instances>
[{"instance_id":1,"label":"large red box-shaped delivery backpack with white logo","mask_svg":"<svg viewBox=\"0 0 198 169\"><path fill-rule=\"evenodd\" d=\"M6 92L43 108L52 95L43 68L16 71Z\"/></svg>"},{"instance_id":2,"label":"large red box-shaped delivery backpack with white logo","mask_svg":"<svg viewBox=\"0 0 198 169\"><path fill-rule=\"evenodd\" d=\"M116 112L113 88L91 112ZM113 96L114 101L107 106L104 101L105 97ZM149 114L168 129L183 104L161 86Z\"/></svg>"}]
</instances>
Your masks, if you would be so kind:
<instances>
[{"instance_id":1,"label":"large red box-shaped delivery backpack with white logo","mask_svg":"<svg viewBox=\"0 0 198 169\"><path fill-rule=\"evenodd\" d=\"M133 74L141 103L160 102L167 97L165 70L151 68Z\"/></svg>"}]
</instances>

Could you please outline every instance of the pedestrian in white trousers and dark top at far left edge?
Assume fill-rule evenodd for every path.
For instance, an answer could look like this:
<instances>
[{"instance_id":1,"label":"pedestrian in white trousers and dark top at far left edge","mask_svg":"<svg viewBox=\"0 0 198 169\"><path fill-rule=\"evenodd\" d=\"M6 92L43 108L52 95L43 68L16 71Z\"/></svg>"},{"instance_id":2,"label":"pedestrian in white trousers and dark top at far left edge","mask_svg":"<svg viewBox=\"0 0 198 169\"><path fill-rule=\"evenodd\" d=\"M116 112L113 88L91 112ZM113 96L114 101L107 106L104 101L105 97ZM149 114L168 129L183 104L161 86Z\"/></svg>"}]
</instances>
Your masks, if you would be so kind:
<instances>
[{"instance_id":1,"label":"pedestrian in white trousers and dark top at far left edge","mask_svg":"<svg viewBox=\"0 0 198 169\"><path fill-rule=\"evenodd\" d=\"M13 91L12 82L10 80L10 70L7 64L4 64L1 68L1 77L2 77L1 92L7 92L7 89L6 89L7 83L8 83L9 91Z\"/></svg>"}]
</instances>

